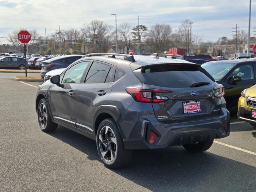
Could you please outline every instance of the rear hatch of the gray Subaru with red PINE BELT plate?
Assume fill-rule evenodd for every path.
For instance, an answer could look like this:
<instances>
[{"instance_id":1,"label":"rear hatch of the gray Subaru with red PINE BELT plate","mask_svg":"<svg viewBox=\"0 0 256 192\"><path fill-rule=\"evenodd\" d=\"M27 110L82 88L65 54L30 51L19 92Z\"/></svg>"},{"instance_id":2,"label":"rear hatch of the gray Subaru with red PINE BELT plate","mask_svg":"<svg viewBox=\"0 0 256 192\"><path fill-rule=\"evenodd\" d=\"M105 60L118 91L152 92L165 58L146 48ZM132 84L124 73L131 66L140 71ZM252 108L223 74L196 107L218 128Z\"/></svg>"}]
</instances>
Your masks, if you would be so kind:
<instances>
[{"instance_id":1,"label":"rear hatch of the gray Subaru with red PINE BELT plate","mask_svg":"<svg viewBox=\"0 0 256 192\"><path fill-rule=\"evenodd\" d=\"M164 64L138 70L142 89L152 90L152 106L158 121L183 122L212 116L220 111L221 102L216 97L220 96L220 87L217 88L219 85L212 76L199 65Z\"/></svg>"}]
</instances>

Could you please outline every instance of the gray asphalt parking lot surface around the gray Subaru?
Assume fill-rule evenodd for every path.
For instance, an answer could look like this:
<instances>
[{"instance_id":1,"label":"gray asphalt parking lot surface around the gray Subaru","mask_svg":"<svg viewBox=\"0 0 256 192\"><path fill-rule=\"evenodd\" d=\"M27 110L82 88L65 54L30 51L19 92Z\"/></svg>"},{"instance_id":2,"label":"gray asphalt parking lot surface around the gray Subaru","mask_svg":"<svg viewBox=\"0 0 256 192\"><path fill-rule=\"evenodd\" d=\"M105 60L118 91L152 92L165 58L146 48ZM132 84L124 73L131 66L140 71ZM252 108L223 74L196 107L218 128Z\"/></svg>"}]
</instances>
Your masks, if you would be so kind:
<instances>
[{"instance_id":1,"label":"gray asphalt parking lot surface around the gray Subaru","mask_svg":"<svg viewBox=\"0 0 256 192\"><path fill-rule=\"evenodd\" d=\"M230 136L204 153L181 146L134 151L110 170L96 142L58 126L40 131L34 107L39 82L0 73L0 191L256 191L256 128L231 117Z\"/></svg>"}]
</instances>

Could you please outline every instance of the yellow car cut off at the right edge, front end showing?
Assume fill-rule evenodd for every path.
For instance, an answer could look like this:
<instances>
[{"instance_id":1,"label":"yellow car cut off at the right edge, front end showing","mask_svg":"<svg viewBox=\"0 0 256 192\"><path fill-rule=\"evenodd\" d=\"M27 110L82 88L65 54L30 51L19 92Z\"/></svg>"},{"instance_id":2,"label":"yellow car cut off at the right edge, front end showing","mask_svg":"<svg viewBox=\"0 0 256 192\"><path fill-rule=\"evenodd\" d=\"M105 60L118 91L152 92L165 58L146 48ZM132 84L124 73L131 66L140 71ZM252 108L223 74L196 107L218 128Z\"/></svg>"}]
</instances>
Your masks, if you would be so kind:
<instances>
[{"instance_id":1,"label":"yellow car cut off at the right edge, front end showing","mask_svg":"<svg viewBox=\"0 0 256 192\"><path fill-rule=\"evenodd\" d=\"M238 119L256 128L256 85L244 89L238 100Z\"/></svg>"}]
</instances>

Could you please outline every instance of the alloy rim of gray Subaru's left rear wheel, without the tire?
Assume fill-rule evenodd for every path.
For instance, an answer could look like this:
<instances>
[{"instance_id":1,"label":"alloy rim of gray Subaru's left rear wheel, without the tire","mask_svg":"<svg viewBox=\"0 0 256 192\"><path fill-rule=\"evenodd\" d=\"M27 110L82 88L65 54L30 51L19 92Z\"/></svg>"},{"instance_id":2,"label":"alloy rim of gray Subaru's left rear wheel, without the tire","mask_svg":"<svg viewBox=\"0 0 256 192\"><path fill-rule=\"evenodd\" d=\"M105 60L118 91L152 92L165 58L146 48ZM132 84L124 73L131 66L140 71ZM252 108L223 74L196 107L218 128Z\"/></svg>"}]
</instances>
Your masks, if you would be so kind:
<instances>
[{"instance_id":1,"label":"alloy rim of gray Subaru's left rear wheel, without the tire","mask_svg":"<svg viewBox=\"0 0 256 192\"><path fill-rule=\"evenodd\" d=\"M117 142L116 136L109 126L104 126L100 130L99 147L104 160L112 162L116 156Z\"/></svg>"}]
</instances>

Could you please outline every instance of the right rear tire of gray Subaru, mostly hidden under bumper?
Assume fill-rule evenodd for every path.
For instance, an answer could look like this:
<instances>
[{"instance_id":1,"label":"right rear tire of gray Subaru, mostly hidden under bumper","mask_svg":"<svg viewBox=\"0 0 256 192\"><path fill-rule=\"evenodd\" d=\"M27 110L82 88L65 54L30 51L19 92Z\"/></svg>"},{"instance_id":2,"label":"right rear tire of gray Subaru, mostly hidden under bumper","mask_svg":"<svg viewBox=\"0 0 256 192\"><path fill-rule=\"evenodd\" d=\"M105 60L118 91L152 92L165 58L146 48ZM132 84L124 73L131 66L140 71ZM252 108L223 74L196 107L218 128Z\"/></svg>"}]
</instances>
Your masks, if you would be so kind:
<instances>
[{"instance_id":1,"label":"right rear tire of gray Subaru, mostly hidden under bumper","mask_svg":"<svg viewBox=\"0 0 256 192\"><path fill-rule=\"evenodd\" d=\"M184 144L182 146L189 152L198 153L208 150L212 146L213 141L214 139L210 141L203 141L200 143Z\"/></svg>"}]
</instances>

